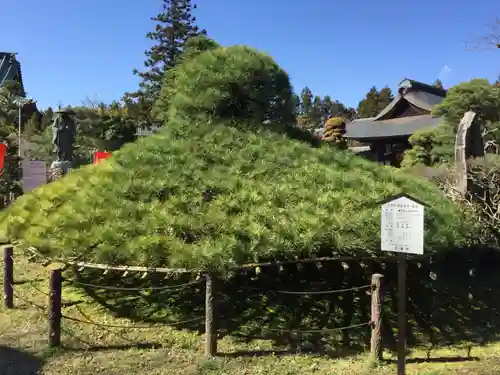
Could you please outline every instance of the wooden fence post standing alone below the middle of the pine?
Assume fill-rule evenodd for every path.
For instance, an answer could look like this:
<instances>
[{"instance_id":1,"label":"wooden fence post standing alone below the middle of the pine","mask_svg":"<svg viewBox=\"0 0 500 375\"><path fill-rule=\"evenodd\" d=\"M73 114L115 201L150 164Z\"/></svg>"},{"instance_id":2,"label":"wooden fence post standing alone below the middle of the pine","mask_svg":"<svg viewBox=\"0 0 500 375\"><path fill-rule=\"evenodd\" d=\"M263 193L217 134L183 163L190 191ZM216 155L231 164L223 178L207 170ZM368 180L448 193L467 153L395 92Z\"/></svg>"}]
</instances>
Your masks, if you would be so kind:
<instances>
[{"instance_id":1,"label":"wooden fence post standing alone below the middle of the pine","mask_svg":"<svg viewBox=\"0 0 500 375\"><path fill-rule=\"evenodd\" d=\"M205 277L205 355L214 357L217 354L217 280L213 273Z\"/></svg>"}]
</instances>

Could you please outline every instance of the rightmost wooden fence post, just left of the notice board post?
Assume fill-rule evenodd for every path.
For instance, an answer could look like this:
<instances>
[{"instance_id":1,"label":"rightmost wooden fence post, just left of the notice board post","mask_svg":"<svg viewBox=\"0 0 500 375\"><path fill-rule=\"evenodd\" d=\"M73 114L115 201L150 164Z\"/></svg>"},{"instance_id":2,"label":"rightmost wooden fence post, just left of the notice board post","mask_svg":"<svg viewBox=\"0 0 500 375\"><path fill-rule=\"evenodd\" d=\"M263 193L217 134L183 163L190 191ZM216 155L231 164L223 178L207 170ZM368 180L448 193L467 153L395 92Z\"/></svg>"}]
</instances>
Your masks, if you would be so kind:
<instances>
[{"instance_id":1,"label":"rightmost wooden fence post, just left of the notice board post","mask_svg":"<svg viewBox=\"0 0 500 375\"><path fill-rule=\"evenodd\" d=\"M372 292L372 313L371 313L371 345L370 355L375 361L382 359L382 310L384 306L384 291L383 287L384 276L380 274L372 275L371 292Z\"/></svg>"}]
</instances>

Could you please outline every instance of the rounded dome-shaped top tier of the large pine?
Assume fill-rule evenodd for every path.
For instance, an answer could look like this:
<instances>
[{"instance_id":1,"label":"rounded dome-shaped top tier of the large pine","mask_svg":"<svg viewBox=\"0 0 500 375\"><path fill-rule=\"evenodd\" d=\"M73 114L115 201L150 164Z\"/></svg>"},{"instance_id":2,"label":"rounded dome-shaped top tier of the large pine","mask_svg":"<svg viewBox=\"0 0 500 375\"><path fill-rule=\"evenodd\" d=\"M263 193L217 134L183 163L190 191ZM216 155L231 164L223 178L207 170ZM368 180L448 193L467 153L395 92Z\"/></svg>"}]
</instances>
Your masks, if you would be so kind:
<instances>
[{"instance_id":1,"label":"rounded dome-shaped top tier of the large pine","mask_svg":"<svg viewBox=\"0 0 500 375\"><path fill-rule=\"evenodd\" d=\"M293 125L288 75L271 57L249 47L216 48L185 61L176 68L174 86L170 116L203 114Z\"/></svg>"}]
</instances>

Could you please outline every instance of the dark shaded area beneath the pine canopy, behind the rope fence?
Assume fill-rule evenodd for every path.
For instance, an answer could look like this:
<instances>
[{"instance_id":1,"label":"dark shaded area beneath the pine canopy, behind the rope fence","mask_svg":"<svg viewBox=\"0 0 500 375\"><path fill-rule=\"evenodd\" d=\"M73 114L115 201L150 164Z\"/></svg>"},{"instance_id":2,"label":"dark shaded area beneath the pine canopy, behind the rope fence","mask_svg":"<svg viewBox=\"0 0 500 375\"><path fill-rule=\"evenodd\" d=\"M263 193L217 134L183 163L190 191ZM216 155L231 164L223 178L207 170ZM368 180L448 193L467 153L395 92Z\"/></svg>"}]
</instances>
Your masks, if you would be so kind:
<instances>
[{"instance_id":1,"label":"dark shaded area beneath the pine canopy, behind the rope fence","mask_svg":"<svg viewBox=\"0 0 500 375\"><path fill-rule=\"evenodd\" d=\"M484 344L500 335L500 290L497 270L500 253L455 250L430 260L408 262L408 346L432 350L446 345ZM218 282L218 335L230 335L241 344L271 340L276 348L301 353L350 355L369 347L369 289L346 293L296 295L288 292L338 290L370 283L373 273L385 276L384 347L396 349L396 262L328 262L263 268L239 272ZM175 279L113 278L85 274L101 285L179 285L193 275ZM96 281L97 280L97 281ZM150 322L185 321L179 329L203 332L204 284L183 290L105 291L87 289L117 316ZM192 322L191 319L198 319ZM357 326L361 325L361 326ZM346 330L335 330L357 326ZM313 332L303 332L313 331ZM331 330L331 331L330 331Z\"/></svg>"}]
</instances>

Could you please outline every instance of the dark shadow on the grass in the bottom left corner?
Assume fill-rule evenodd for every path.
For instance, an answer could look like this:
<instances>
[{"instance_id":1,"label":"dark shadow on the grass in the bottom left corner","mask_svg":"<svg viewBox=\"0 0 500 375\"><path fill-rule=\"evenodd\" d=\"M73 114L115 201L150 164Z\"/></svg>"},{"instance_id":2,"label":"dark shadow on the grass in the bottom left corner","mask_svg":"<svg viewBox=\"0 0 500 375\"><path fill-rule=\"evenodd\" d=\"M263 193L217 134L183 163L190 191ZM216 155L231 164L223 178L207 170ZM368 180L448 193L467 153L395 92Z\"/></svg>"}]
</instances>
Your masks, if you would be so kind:
<instances>
[{"instance_id":1,"label":"dark shadow on the grass in the bottom left corner","mask_svg":"<svg viewBox=\"0 0 500 375\"><path fill-rule=\"evenodd\" d=\"M2 375L36 375L43 366L43 360L21 351L0 345L0 373Z\"/></svg>"}]
</instances>

